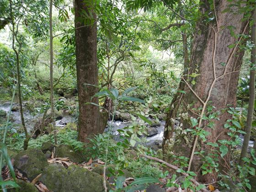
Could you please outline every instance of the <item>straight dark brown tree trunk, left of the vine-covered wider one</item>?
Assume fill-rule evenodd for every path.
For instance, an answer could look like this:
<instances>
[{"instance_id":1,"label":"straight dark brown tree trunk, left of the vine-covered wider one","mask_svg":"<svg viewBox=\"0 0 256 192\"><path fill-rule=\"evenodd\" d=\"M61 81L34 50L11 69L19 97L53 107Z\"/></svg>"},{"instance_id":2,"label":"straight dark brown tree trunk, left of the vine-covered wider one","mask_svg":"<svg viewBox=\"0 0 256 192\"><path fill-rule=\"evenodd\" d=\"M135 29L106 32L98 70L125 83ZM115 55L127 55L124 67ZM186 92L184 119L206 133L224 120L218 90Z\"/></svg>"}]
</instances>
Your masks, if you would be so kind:
<instances>
[{"instance_id":1,"label":"straight dark brown tree trunk, left of the vine-covered wider one","mask_svg":"<svg viewBox=\"0 0 256 192\"><path fill-rule=\"evenodd\" d=\"M81 11L93 15L91 24L87 22L89 19L82 18L84 14L80 15ZM92 11L92 14L89 14L89 11ZM75 28L79 99L78 140L88 142L89 135L102 133L103 130L100 126L99 107L85 104L86 102L93 102L98 105L99 101L97 97L93 97L98 89L92 86L98 85L96 14L92 7L83 3L83 0L75 0Z\"/></svg>"}]
</instances>

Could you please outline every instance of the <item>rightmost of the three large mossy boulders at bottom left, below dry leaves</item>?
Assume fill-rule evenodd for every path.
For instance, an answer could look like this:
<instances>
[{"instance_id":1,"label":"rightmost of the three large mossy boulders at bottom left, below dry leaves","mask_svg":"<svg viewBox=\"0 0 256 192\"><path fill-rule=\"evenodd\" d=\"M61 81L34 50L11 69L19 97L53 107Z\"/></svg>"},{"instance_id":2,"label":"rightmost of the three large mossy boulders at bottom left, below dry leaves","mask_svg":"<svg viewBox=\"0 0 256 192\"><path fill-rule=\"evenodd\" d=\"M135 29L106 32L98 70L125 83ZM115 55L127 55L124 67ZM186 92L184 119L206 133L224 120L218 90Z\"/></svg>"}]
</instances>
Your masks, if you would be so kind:
<instances>
[{"instance_id":1,"label":"rightmost of the three large mossy boulders at bottom left, below dry leaves","mask_svg":"<svg viewBox=\"0 0 256 192\"><path fill-rule=\"evenodd\" d=\"M103 177L77 165L68 168L69 187L73 192L103 192ZM107 182L107 188L110 185Z\"/></svg>"}]
</instances>

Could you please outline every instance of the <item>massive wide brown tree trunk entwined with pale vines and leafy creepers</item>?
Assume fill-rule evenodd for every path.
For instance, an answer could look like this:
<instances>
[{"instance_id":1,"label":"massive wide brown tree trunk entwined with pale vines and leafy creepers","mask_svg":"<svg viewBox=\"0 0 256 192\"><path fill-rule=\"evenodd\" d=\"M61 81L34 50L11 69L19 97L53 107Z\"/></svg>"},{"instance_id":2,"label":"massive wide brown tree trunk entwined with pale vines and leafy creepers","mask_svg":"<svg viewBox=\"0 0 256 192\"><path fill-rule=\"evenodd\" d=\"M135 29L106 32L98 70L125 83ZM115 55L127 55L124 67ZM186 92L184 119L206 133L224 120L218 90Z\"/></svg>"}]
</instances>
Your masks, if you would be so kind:
<instances>
[{"instance_id":1,"label":"massive wide brown tree trunk entwined with pale vines and leafy creepers","mask_svg":"<svg viewBox=\"0 0 256 192\"><path fill-rule=\"evenodd\" d=\"M201 3L200 11L202 13L212 11L214 16L214 10L210 9L208 1L201 0ZM210 105L216 107L217 111L226 108L228 105L230 107L235 107L236 105L235 94L244 51L239 50L237 47L228 48L228 45L236 44L238 40L240 43L243 43L244 41L243 39L236 39L235 37L231 36L230 30L223 26L234 26L233 32L235 34L242 34L247 32L247 21L241 21L243 18L242 14L235 16L237 13L224 12L224 9L228 8L229 4L230 3L227 0L215 0L215 11L218 25L216 25L217 22L215 19L209 23L207 23L206 20L203 20L201 23L197 23L191 50L189 74L196 73L200 75L195 78L196 84L193 86L190 83L193 78L189 77L187 80L188 84L191 84L194 93L191 91L191 89L189 89L188 86L186 86L186 94L182 98L182 106L183 112L188 112L188 118L186 115L181 117L183 129L192 128L189 122L190 117L201 116L202 111L204 114L208 101L212 101ZM234 9L233 11L235 11ZM184 80L181 81L180 87L183 86L182 84L184 85ZM195 94L204 102L205 105L203 105L203 102L200 101ZM189 104L192 104L192 106L189 107ZM174 105L172 102L170 108L173 108L173 106ZM198 107L202 107L203 110L197 111L197 113L199 113L197 116L195 112L192 111L192 108ZM173 112L176 112L176 110L170 111L168 114L169 119L173 117ZM229 139L229 136L227 135L228 130L224 129L223 127L227 119L230 119L231 117L232 116L229 113L224 112L224 114L219 117L219 121L214 122L215 125L213 128L206 127L205 125L207 122L202 120L201 128L205 128L206 131L211 133L207 137L207 142L215 143L216 140L219 139ZM171 151L174 152L175 155L190 158L194 138L191 135L186 135L188 139L184 139L186 138L184 137L185 135L177 134L175 143L170 144L170 134L168 135L166 133L168 131L170 132L167 123L168 121L166 121L164 133L165 138L163 141L163 152L166 159L171 160ZM204 156L210 153L211 149L207 147L206 143L199 141L195 146L197 147L195 148L196 151L205 150ZM200 163L202 163L200 158L201 157L197 155L192 158L193 161L191 171L195 171L198 174L199 180L212 182L213 179L216 179L217 174L214 173L200 176L200 172L202 172L202 170L200 171ZM224 159L220 159L219 161L221 167L229 167L229 162L229 153L224 156Z\"/></svg>"}]
</instances>

